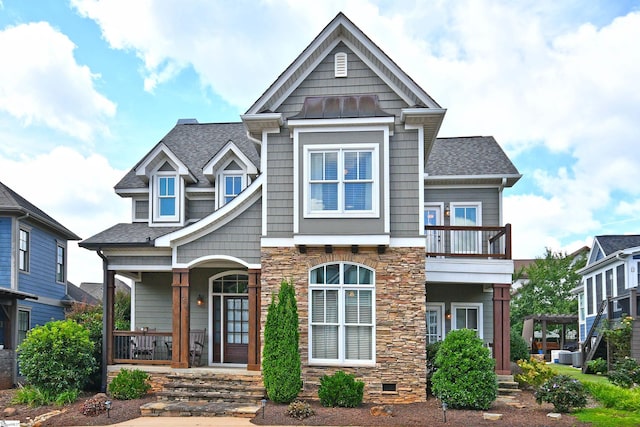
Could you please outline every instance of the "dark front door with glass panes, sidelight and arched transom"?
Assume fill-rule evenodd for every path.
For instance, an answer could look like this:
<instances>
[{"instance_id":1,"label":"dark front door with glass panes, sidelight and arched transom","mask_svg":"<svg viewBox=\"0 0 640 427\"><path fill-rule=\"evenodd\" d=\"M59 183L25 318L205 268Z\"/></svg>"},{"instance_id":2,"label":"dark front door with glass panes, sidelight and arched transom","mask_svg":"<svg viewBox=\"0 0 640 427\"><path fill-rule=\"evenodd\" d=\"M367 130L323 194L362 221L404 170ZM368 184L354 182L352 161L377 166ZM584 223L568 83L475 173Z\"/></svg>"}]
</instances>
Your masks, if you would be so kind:
<instances>
[{"instance_id":1,"label":"dark front door with glass panes, sidelight and arched transom","mask_svg":"<svg viewBox=\"0 0 640 427\"><path fill-rule=\"evenodd\" d=\"M211 279L212 362L246 364L249 352L249 298L246 274Z\"/></svg>"}]
</instances>

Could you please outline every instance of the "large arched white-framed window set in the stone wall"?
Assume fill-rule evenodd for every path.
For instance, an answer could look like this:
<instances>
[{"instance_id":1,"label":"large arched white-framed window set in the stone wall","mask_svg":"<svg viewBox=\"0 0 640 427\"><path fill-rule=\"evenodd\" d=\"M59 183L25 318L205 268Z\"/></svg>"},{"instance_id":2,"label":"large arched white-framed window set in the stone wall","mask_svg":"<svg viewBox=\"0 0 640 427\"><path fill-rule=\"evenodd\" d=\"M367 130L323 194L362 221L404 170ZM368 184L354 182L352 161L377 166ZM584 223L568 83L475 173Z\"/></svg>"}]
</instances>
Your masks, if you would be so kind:
<instances>
[{"instance_id":1,"label":"large arched white-framed window set in the stone wall","mask_svg":"<svg viewBox=\"0 0 640 427\"><path fill-rule=\"evenodd\" d=\"M374 360L375 273L357 264L316 267L309 274L311 363Z\"/></svg>"}]
</instances>

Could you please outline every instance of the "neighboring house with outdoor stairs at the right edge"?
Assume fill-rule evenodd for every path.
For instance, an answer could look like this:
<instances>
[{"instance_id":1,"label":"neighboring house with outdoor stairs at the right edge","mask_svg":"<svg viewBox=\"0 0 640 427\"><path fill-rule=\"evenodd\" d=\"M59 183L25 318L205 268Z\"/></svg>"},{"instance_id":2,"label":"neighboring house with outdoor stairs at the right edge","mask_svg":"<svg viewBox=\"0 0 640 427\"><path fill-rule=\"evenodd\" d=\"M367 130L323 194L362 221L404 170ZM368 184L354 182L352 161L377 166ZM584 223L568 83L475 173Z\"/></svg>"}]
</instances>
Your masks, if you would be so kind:
<instances>
[{"instance_id":1,"label":"neighboring house with outdoor stairs at the right edge","mask_svg":"<svg viewBox=\"0 0 640 427\"><path fill-rule=\"evenodd\" d=\"M623 316L638 318L640 281L640 235L595 236L587 265L578 270L582 284L577 289L580 343L583 364L606 358L600 329L603 321L615 324ZM631 353L640 358L640 324L633 322Z\"/></svg>"}]
</instances>

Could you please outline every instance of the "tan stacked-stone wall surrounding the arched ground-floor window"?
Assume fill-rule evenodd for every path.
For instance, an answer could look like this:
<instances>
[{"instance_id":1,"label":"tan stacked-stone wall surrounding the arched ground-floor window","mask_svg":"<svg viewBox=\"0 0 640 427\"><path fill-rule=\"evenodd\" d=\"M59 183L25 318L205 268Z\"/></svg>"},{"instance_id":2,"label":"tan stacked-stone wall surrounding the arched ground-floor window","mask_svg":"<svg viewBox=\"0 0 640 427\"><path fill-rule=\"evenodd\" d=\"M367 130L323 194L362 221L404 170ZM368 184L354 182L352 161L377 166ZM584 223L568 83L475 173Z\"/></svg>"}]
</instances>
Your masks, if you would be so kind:
<instances>
[{"instance_id":1,"label":"tan stacked-stone wall surrounding the arched ground-floor window","mask_svg":"<svg viewBox=\"0 0 640 427\"><path fill-rule=\"evenodd\" d=\"M376 272L376 344L374 367L309 366L309 270L327 262L351 262ZM320 378L337 370L353 373L364 381L364 400L376 403L412 403L426 400L426 317L424 248L307 247L262 248L262 313L264 325L272 295L282 280L292 280L296 289L300 322L300 356L304 390L301 397L318 398ZM395 392L383 392L382 384L396 384Z\"/></svg>"}]
</instances>

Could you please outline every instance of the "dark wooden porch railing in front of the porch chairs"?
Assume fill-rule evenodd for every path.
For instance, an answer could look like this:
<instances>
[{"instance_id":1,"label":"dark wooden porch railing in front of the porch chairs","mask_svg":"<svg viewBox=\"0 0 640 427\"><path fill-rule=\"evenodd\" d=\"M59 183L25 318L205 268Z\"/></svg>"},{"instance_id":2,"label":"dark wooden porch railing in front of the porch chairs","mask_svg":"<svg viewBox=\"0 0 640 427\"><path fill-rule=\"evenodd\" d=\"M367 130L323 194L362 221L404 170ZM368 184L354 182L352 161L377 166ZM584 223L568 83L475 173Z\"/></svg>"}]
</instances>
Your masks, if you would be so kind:
<instances>
[{"instance_id":1,"label":"dark wooden porch railing in front of the porch chairs","mask_svg":"<svg viewBox=\"0 0 640 427\"><path fill-rule=\"evenodd\" d=\"M113 331L113 361L143 365L171 364L171 332Z\"/></svg>"}]
</instances>

